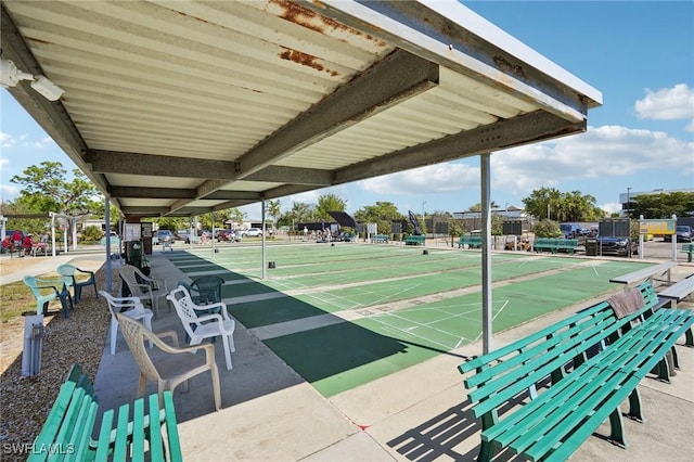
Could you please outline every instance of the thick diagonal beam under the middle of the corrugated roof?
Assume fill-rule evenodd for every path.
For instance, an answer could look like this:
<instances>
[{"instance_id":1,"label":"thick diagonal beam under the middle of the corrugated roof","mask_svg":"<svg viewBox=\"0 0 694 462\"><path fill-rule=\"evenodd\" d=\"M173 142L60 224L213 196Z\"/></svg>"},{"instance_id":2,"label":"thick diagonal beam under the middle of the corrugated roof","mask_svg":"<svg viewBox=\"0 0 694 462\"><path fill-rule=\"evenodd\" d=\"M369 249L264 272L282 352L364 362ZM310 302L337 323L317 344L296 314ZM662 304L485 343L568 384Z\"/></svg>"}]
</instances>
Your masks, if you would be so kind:
<instances>
[{"instance_id":1,"label":"thick diagonal beam under the middle of the corrugated roof","mask_svg":"<svg viewBox=\"0 0 694 462\"><path fill-rule=\"evenodd\" d=\"M236 180L438 85L438 65L397 50L335 90L239 158ZM228 183L210 180L205 196Z\"/></svg>"}]
</instances>

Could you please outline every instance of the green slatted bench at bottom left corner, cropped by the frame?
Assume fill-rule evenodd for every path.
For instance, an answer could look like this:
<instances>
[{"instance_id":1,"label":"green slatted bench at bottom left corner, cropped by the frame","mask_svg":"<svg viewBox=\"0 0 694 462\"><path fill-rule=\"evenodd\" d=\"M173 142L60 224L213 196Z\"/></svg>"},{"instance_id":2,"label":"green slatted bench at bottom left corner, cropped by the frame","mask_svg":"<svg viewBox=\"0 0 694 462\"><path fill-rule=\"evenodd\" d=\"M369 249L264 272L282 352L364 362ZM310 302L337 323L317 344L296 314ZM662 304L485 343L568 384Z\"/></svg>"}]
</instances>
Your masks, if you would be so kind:
<instances>
[{"instance_id":1,"label":"green slatted bench at bottom left corner, cropped by the frame","mask_svg":"<svg viewBox=\"0 0 694 462\"><path fill-rule=\"evenodd\" d=\"M91 381L75 364L61 386L27 460L46 461L57 457L76 461L182 461L171 393L164 392L163 406L157 394L146 401L149 412L145 412L145 398L137 399L132 406L120 406L117 418L113 409L104 412L98 438L93 439L99 403ZM130 413L132 419L129 419Z\"/></svg>"}]
</instances>

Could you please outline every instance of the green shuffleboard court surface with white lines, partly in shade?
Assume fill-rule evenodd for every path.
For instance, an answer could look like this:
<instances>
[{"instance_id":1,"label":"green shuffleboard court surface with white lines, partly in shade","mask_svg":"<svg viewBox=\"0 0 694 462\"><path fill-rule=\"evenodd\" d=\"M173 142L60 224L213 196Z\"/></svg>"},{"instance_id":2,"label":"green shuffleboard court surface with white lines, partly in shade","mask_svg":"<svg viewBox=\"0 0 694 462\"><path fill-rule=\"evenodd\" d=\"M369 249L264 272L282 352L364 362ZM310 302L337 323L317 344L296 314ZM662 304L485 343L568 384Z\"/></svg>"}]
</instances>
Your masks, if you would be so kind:
<instances>
[{"instance_id":1,"label":"green shuffleboard court surface with white lines, partly in shade","mask_svg":"<svg viewBox=\"0 0 694 462\"><path fill-rule=\"evenodd\" d=\"M414 252L413 252L414 251ZM479 252L344 244L167 257L191 278L218 274L230 313L324 396L365 384L481 335ZM500 332L618 288L611 278L645 264L525 253L492 255L493 330ZM255 295L248 299L235 299ZM582 307L582 306L581 306ZM329 322L326 322L329 320ZM300 324L300 326L299 326ZM278 334L277 332L280 332Z\"/></svg>"}]
</instances>

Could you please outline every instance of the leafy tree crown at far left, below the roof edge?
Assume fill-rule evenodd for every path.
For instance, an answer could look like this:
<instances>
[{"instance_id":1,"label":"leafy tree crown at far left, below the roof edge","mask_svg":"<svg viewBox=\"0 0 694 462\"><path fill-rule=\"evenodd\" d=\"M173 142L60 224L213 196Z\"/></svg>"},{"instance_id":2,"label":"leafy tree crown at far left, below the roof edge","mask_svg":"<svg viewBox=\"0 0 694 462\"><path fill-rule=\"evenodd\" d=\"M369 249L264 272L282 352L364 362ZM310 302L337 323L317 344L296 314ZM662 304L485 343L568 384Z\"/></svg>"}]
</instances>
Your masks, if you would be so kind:
<instances>
[{"instance_id":1,"label":"leafy tree crown at far left, below the roof edge","mask_svg":"<svg viewBox=\"0 0 694 462\"><path fill-rule=\"evenodd\" d=\"M95 208L94 197L99 191L79 169L73 170L75 178L72 181L67 181L67 171L60 162L44 161L26 168L23 174L15 175L10 181L22 185L20 196L34 210L73 216L103 214L103 206Z\"/></svg>"}]
</instances>

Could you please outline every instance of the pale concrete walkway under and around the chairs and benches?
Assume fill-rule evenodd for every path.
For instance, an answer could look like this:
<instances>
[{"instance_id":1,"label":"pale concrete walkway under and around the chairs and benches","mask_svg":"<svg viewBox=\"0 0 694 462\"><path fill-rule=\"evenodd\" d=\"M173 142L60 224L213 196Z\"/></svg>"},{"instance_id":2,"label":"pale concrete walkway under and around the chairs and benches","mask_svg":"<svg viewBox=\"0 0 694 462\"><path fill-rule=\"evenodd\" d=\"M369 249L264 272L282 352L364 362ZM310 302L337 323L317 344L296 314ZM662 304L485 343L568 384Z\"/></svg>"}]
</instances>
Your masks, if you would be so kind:
<instances>
[{"instance_id":1,"label":"pale concrete walkway under and around the chairs and benches","mask_svg":"<svg viewBox=\"0 0 694 462\"><path fill-rule=\"evenodd\" d=\"M187 277L159 253L150 258L152 274L169 288ZM53 262L53 266L55 264ZM682 267L673 279L694 272ZM582 306L587 306L583 303ZM183 330L164 300L154 330ZM498 334L494 347L549 325L579 307L568 307ZM187 461L472 461L479 445L479 424L468 410L457 367L478 355L479 343L324 398L243 325L234 334L233 369L220 369L222 410L215 412L209 374L177 389L176 410ZM118 334L116 355L108 339L95 377L101 409L131 401L139 370ZM682 370L672 384L646 378L640 386L647 421L626 420L627 450L591 437L575 461L690 461L694 457L694 349L678 346ZM147 393L156 393L149 384ZM603 434L607 432L602 428ZM512 460L502 453L497 460Z\"/></svg>"}]
</instances>

